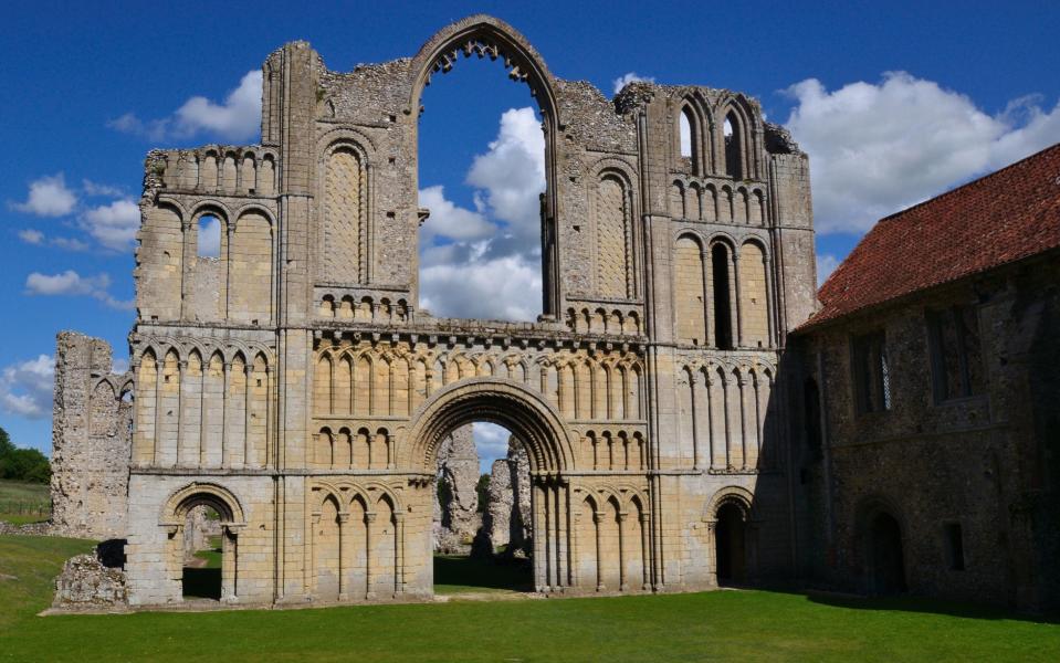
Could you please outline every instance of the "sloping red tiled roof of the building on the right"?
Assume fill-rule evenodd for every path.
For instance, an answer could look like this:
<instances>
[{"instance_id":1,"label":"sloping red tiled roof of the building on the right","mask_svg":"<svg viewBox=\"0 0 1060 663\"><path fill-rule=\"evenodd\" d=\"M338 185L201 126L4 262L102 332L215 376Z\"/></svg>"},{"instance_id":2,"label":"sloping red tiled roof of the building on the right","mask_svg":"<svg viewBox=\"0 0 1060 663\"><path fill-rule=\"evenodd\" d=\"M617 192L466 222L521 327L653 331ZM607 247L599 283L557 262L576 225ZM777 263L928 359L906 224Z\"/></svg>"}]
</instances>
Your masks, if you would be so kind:
<instances>
[{"instance_id":1,"label":"sloping red tiled roof of the building on the right","mask_svg":"<svg viewBox=\"0 0 1060 663\"><path fill-rule=\"evenodd\" d=\"M802 328L1060 248L1060 144L881 219Z\"/></svg>"}]
</instances>

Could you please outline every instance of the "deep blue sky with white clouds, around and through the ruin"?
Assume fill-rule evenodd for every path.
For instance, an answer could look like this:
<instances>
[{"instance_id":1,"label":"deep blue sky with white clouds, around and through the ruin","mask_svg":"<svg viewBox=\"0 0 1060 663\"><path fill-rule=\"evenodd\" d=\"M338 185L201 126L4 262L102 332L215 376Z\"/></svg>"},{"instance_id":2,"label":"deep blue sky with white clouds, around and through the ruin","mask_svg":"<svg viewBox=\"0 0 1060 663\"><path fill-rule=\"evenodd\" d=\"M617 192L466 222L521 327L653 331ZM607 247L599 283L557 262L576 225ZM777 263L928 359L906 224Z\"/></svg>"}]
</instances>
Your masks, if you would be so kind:
<instances>
[{"instance_id":1,"label":"deep blue sky with white clouds, around and through the ruin","mask_svg":"<svg viewBox=\"0 0 1060 663\"><path fill-rule=\"evenodd\" d=\"M246 75L285 41L308 40L345 71L411 56L444 23L485 12L522 31L555 75L608 96L633 73L749 93L811 156L823 271L874 219L1060 141L1054 3L391 4L0 8L0 425L17 443L50 450L56 332L126 354L144 154L255 141ZM519 209L536 199L539 160L532 116L518 113L527 90L498 65L466 62L423 101L432 311L479 315L484 299L511 304L485 313L533 316L537 295L523 291L539 274ZM517 186L491 177L519 164ZM518 292L445 298L445 283L485 287L498 273Z\"/></svg>"}]
</instances>

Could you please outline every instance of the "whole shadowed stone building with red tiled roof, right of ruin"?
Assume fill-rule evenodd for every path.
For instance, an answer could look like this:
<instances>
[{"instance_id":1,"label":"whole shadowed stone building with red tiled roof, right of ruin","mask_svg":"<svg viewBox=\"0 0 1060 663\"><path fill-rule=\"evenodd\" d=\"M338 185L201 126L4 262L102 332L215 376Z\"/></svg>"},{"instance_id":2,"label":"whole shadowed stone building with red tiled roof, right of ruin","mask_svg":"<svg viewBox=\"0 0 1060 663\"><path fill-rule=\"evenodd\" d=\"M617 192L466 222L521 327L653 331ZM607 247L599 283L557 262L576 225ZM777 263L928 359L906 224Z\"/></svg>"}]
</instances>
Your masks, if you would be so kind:
<instances>
[{"instance_id":1,"label":"whole shadowed stone building with red tiled roof, right of ruin","mask_svg":"<svg viewBox=\"0 0 1060 663\"><path fill-rule=\"evenodd\" d=\"M1060 145L882 219L819 299L790 344L806 572L1056 607Z\"/></svg>"}]
</instances>

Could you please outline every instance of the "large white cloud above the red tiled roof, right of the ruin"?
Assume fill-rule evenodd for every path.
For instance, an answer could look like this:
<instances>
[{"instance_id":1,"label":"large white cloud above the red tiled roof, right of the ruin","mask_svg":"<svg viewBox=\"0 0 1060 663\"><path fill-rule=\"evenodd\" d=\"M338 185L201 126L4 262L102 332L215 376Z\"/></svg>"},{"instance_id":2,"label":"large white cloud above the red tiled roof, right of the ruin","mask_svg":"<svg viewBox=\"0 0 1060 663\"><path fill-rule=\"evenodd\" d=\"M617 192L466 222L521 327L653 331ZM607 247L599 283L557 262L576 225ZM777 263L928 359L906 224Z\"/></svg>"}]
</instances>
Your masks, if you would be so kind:
<instances>
[{"instance_id":1,"label":"large white cloud above the red tiled roof, right of the ruin","mask_svg":"<svg viewBox=\"0 0 1060 663\"><path fill-rule=\"evenodd\" d=\"M886 214L1060 140L1060 105L1018 99L990 116L970 98L904 72L829 92L815 78L787 93L787 127L810 155L822 233L868 230Z\"/></svg>"}]
</instances>

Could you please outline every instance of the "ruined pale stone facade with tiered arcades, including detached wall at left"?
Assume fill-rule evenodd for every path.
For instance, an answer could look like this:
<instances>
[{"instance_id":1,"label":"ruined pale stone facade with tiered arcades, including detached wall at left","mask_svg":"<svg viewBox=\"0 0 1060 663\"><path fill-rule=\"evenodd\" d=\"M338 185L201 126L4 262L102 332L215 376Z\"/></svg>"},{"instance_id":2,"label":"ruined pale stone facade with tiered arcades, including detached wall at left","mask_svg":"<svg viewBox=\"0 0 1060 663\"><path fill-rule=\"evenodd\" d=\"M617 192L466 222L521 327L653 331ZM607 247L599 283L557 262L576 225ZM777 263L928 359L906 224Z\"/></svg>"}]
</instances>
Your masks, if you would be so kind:
<instances>
[{"instance_id":1,"label":"ruined pale stone facade with tiered arcades, including detached wall at left","mask_svg":"<svg viewBox=\"0 0 1060 663\"><path fill-rule=\"evenodd\" d=\"M465 59L539 105L535 323L418 307L420 95ZM63 359L60 339L56 462L113 445L128 506L57 518L127 537L132 604L181 602L199 505L221 517L223 601L430 597L439 449L473 421L525 446L539 592L714 587L724 509L746 579L794 575L780 367L815 307L809 170L755 99L650 83L607 98L482 15L351 72L290 43L263 78L260 145L147 157L132 373L95 341ZM220 257L199 255L207 215ZM55 481L71 498L97 485ZM101 499L124 486L107 485Z\"/></svg>"}]
</instances>

